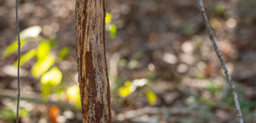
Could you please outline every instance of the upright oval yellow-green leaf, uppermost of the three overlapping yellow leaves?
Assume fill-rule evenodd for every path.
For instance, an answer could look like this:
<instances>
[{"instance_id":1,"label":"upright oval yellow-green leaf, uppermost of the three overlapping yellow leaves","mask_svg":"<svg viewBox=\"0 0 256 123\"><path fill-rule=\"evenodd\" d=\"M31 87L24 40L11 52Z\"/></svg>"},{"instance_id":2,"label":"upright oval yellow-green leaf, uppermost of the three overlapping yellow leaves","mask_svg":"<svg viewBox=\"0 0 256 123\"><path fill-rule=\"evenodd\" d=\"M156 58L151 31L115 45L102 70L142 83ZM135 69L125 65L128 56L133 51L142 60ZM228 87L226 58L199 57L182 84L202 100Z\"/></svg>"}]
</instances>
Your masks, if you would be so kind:
<instances>
[{"instance_id":1,"label":"upright oval yellow-green leaf, uppermost of the three overlapping yellow leaves","mask_svg":"<svg viewBox=\"0 0 256 123\"><path fill-rule=\"evenodd\" d=\"M36 56L38 60L44 59L51 51L51 44L48 41L43 41L37 47Z\"/></svg>"}]
</instances>

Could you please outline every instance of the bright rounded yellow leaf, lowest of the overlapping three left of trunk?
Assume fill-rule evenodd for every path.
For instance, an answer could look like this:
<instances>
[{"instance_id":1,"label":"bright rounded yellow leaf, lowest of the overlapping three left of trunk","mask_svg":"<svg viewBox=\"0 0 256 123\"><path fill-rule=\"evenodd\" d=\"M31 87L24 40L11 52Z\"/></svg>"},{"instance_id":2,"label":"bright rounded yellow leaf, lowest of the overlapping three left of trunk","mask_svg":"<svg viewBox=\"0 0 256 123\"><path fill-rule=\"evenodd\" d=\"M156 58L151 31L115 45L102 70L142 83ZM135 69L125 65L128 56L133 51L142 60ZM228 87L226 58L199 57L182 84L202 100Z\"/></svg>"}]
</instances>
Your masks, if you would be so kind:
<instances>
[{"instance_id":1,"label":"bright rounded yellow leaf, lowest of the overlapping three left of trunk","mask_svg":"<svg viewBox=\"0 0 256 123\"><path fill-rule=\"evenodd\" d=\"M58 67L53 67L48 72L44 73L41 77L41 83L43 85L50 83L52 86L56 86L61 82L62 73Z\"/></svg>"}]
</instances>

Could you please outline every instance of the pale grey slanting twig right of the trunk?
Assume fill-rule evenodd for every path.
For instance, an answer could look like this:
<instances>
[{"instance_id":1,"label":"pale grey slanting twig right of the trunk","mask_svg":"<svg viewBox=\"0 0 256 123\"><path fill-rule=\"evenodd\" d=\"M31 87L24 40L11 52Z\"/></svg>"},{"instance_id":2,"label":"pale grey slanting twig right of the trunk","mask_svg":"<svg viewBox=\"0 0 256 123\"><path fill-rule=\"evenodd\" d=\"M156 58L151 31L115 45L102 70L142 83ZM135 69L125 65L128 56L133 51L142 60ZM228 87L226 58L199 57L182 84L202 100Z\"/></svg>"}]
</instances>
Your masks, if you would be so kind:
<instances>
[{"instance_id":1,"label":"pale grey slanting twig right of the trunk","mask_svg":"<svg viewBox=\"0 0 256 123\"><path fill-rule=\"evenodd\" d=\"M241 113L241 109L240 109L240 104L239 104L239 101L238 101L238 96L237 96L237 91L235 89L235 85L231 79L231 76L227 70L227 66L221 56L221 53L220 53L220 49L217 45L217 43L215 42L214 40L214 37L212 35L212 29L211 29L211 26L210 26L210 23L207 19L207 16L206 16L206 13L205 13L205 8L204 8L204 5L203 5L203 1L202 0L199 0L199 4L200 4L200 11L201 11L201 14L202 14L202 18L204 20L204 23L205 23L205 26L206 26L206 29L207 29L207 32L208 32L208 35L209 35L209 38L210 40L212 41L212 44L214 46L214 49L215 49L215 52L220 60L220 64L227 76L227 81L232 89L232 94L233 94L233 97L234 97L234 100L235 100L235 106L236 106L236 109L237 109L237 112L238 112L238 118L239 118L239 121L240 123L243 123L243 118L242 118L242 113Z\"/></svg>"}]
</instances>

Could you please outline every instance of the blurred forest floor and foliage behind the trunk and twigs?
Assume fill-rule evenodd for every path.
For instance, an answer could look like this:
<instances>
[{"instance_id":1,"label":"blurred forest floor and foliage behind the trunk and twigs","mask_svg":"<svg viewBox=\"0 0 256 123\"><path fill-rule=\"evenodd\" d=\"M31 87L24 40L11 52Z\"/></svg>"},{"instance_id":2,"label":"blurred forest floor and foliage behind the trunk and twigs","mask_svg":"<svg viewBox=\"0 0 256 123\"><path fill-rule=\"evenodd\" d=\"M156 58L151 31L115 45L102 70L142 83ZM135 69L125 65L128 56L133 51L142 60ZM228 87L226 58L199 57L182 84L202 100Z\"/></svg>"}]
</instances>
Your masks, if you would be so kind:
<instances>
[{"instance_id":1,"label":"blurred forest floor and foliage behind the trunk and twigs","mask_svg":"<svg viewBox=\"0 0 256 123\"><path fill-rule=\"evenodd\" d=\"M82 122L75 0L21 0L20 122ZM15 1L0 1L0 122L16 118ZM113 122L237 122L196 0L106 1ZM245 122L256 122L256 4L205 1Z\"/></svg>"}]
</instances>

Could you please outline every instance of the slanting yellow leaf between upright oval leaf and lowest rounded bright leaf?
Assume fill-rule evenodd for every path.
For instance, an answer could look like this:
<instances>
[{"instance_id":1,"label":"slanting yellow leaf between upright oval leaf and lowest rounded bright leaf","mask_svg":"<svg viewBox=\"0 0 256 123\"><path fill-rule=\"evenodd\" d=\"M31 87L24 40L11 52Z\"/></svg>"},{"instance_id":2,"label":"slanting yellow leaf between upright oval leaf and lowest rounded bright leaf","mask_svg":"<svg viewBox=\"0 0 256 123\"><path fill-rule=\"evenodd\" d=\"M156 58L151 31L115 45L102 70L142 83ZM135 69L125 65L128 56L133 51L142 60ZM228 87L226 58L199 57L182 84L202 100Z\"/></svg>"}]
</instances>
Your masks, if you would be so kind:
<instances>
[{"instance_id":1,"label":"slanting yellow leaf between upright oval leaf and lowest rounded bright leaf","mask_svg":"<svg viewBox=\"0 0 256 123\"><path fill-rule=\"evenodd\" d=\"M54 64L55 58L52 55L46 56L44 59L37 61L31 68L32 76L37 78L44 74Z\"/></svg>"}]
</instances>

